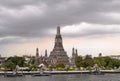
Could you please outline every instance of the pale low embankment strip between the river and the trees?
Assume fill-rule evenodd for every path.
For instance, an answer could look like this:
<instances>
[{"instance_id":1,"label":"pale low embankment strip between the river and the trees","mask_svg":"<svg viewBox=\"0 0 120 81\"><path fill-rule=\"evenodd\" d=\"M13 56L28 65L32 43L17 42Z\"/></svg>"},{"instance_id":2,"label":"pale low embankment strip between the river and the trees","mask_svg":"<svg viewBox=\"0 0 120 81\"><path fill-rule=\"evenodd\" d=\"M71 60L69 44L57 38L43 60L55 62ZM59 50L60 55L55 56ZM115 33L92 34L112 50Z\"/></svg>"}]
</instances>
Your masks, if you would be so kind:
<instances>
[{"instance_id":1,"label":"pale low embankment strip between the river and the trees","mask_svg":"<svg viewBox=\"0 0 120 81\"><path fill-rule=\"evenodd\" d=\"M101 73L120 73L120 71L116 70L100 70ZM90 74L92 71L85 70L85 71L44 71L46 74ZM0 71L0 75L4 74L13 74L13 71ZM32 75L32 74L38 74L40 71L18 71L18 74L24 74L24 75Z\"/></svg>"}]
</instances>

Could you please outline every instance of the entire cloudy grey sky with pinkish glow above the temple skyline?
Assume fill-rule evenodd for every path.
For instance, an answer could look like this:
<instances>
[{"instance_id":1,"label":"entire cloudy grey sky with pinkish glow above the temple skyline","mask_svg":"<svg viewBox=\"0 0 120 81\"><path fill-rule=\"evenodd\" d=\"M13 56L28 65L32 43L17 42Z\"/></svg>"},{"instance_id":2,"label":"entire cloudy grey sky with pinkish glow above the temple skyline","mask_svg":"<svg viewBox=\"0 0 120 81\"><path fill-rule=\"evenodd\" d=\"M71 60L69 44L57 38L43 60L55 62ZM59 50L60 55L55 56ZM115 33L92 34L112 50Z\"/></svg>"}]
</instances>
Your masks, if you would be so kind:
<instances>
[{"instance_id":1,"label":"entire cloudy grey sky with pinkish glow above the temple skyline","mask_svg":"<svg viewBox=\"0 0 120 81\"><path fill-rule=\"evenodd\" d=\"M79 55L120 54L119 8L119 0L0 0L0 54L50 54L58 24L69 56L73 47Z\"/></svg>"}]
</instances>

